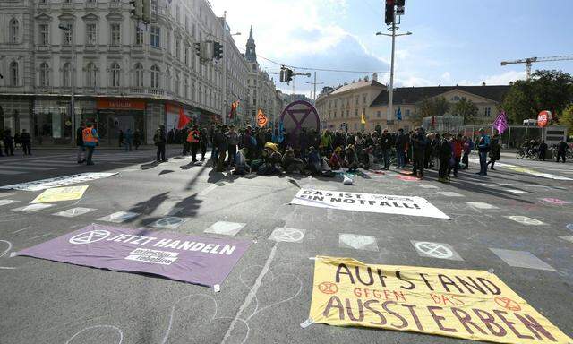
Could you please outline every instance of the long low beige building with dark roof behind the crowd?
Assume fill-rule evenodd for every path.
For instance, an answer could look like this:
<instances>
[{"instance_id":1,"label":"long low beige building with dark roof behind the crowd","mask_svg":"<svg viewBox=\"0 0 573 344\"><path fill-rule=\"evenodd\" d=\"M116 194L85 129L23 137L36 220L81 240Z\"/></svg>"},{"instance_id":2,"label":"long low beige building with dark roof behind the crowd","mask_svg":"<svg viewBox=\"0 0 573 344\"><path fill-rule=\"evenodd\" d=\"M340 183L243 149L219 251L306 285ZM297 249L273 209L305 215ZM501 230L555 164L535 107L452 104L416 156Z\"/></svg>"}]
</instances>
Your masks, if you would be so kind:
<instances>
[{"instance_id":1,"label":"long low beige building with dark roof behind the crowd","mask_svg":"<svg viewBox=\"0 0 573 344\"><path fill-rule=\"evenodd\" d=\"M475 124L491 124L498 115L500 103L510 87L483 84L396 88L393 95L394 111L398 112L399 109L401 120L398 120L396 115L388 120L388 88L375 82L375 75L372 81L364 79L337 88L325 87L322 90L316 100L316 107L323 128L372 132L380 125L390 131L397 131L398 128L410 131L422 124L422 117L417 113L420 101L439 97L444 97L450 104L449 111L444 116L457 116L458 114L454 113L455 104L461 99L468 99L472 100L478 109ZM362 114L365 125L362 123Z\"/></svg>"}]
</instances>

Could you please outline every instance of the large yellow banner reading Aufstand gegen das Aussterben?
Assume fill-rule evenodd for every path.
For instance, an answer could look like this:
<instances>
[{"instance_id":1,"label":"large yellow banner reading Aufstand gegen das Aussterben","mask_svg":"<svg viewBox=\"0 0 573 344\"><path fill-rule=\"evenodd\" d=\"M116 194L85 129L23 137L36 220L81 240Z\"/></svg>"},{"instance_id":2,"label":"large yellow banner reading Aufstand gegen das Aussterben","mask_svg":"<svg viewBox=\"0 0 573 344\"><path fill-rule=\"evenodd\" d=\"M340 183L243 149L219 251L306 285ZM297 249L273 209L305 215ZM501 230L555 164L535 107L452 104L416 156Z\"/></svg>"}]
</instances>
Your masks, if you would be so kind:
<instances>
[{"instance_id":1,"label":"large yellow banner reading Aufstand gegen das Aussterben","mask_svg":"<svg viewBox=\"0 0 573 344\"><path fill-rule=\"evenodd\" d=\"M351 258L316 258L310 318L499 343L573 342L488 271Z\"/></svg>"}]
</instances>

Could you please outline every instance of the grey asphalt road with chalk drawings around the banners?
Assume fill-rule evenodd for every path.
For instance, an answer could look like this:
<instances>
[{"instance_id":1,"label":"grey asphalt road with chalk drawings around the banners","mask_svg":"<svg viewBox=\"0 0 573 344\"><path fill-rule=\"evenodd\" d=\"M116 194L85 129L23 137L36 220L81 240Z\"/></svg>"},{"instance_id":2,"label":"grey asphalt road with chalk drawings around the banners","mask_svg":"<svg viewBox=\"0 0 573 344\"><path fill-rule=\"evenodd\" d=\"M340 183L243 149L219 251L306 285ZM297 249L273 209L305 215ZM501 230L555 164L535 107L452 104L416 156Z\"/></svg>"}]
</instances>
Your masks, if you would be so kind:
<instances>
[{"instance_id":1,"label":"grey asphalt road with chalk drawings around the banners","mask_svg":"<svg viewBox=\"0 0 573 344\"><path fill-rule=\"evenodd\" d=\"M90 186L81 200L55 202L38 211L13 209L27 205L39 191L0 189L0 343L466 342L406 331L322 324L301 328L312 297L314 261L309 258L316 255L490 270L573 336L573 310L566 301L573 297L573 229L567 228L573 223L573 181L551 177L573 179L571 163L517 160L504 154L505 165L489 176L475 176L474 163L448 185L436 181L435 171L423 181L402 180L390 171L356 176L355 185L343 185L339 177L235 178L194 166L187 157L172 156L155 165L150 150L98 151L97 165L91 168L75 164L72 152L40 154L0 158L0 185L88 171L118 174L82 183ZM289 205L300 187L421 196L451 220ZM52 215L76 207L93 211L73 218ZM150 275L11 257L90 223L107 224L98 219L116 211L139 214L119 226L141 228L174 210L175 217L184 219L171 229L178 233L227 237L204 231L219 221L244 224L234 237L253 244L220 292ZM509 216L543 224L525 225ZM294 228L296 239L304 236L298 242L269 240L275 228ZM354 235L355 240L345 241L341 237L348 236L341 234ZM447 244L461 260L423 256L412 241ZM537 259L528 255L505 261L492 249ZM529 268L518 266L525 262Z\"/></svg>"}]
</instances>

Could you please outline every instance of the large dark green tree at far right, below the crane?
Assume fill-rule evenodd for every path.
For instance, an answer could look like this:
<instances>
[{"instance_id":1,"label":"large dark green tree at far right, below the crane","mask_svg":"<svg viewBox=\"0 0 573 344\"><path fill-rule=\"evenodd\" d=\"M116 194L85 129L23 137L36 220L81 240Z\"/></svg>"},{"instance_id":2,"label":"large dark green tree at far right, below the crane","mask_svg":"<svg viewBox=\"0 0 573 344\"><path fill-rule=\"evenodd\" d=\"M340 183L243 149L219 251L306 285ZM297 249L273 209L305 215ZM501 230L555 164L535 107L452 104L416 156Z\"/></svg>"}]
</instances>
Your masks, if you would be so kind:
<instances>
[{"instance_id":1,"label":"large dark green tree at far right, below the crane","mask_svg":"<svg viewBox=\"0 0 573 344\"><path fill-rule=\"evenodd\" d=\"M558 116L573 98L573 78L560 71L535 71L530 80L514 82L501 106L511 123L537 118L542 110Z\"/></svg>"}]
</instances>

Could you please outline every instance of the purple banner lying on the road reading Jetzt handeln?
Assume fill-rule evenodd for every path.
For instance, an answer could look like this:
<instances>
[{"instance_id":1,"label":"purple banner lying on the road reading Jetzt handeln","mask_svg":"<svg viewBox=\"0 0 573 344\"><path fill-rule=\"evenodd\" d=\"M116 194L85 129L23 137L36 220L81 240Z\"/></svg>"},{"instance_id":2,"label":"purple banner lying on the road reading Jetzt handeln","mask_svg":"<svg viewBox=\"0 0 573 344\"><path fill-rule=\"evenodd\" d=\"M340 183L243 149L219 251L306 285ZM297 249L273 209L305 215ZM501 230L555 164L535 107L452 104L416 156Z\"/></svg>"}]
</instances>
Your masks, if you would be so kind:
<instances>
[{"instance_id":1,"label":"purple banner lying on the road reading Jetzt handeln","mask_svg":"<svg viewBox=\"0 0 573 344\"><path fill-rule=\"evenodd\" d=\"M91 224L18 255L113 271L145 272L171 280L221 285L251 241Z\"/></svg>"}]
</instances>

